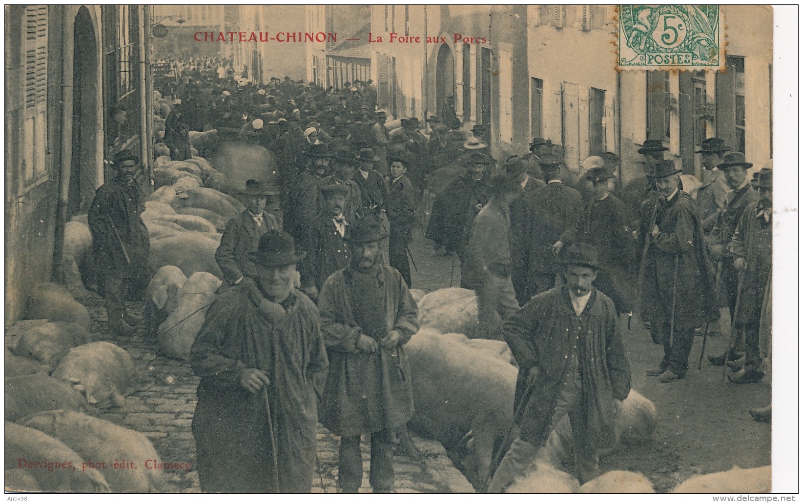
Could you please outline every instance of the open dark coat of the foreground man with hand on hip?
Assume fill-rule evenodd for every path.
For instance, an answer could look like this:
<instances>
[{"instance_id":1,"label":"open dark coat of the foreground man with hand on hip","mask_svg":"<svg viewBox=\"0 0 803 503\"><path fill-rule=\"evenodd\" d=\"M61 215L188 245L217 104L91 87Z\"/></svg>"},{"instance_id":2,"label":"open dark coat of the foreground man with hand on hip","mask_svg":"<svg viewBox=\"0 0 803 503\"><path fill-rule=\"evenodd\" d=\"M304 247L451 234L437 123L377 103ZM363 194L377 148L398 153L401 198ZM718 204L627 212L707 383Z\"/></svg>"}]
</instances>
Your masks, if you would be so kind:
<instances>
[{"instance_id":1,"label":"open dark coat of the foreground man with hand on hip","mask_svg":"<svg viewBox=\"0 0 803 503\"><path fill-rule=\"evenodd\" d=\"M514 420L521 439L530 444L543 445L549 436L576 337L587 438L596 448L615 443L613 399L625 400L630 393L630 363L616 330L616 309L610 298L593 289L577 318L569 290L556 286L536 294L503 323L503 337L519 363L513 404L519 413ZM532 367L538 367L540 375L528 390Z\"/></svg>"}]
</instances>

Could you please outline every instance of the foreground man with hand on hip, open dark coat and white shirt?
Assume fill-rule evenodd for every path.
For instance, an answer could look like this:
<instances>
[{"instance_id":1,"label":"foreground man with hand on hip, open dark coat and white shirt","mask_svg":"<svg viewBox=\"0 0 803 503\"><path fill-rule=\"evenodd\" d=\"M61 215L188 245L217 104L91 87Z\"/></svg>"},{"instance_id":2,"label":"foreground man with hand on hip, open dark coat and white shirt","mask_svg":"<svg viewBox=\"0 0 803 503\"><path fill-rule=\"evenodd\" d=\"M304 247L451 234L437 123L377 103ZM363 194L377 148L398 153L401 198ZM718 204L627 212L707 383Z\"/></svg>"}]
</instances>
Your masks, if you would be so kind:
<instances>
[{"instance_id":1,"label":"foreground man with hand on hip, open dark coat and white shirt","mask_svg":"<svg viewBox=\"0 0 803 503\"><path fill-rule=\"evenodd\" d=\"M616 309L593 287L597 254L577 243L563 250L566 285L537 294L503 324L519 376L513 443L488 493L501 493L535 460L549 433L569 416L581 483L598 474L597 450L616 443L613 420L630 393L630 364L616 330Z\"/></svg>"}]
</instances>

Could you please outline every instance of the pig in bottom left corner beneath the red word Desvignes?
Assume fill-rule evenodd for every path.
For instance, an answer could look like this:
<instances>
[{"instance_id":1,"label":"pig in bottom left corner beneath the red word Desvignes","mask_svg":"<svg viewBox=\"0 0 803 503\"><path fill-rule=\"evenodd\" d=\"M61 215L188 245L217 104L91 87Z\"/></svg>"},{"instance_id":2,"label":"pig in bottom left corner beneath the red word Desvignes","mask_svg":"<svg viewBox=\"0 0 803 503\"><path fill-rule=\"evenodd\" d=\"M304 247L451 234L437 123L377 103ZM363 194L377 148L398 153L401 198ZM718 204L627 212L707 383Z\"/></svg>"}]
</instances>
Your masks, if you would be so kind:
<instances>
[{"instance_id":1,"label":"pig in bottom left corner beneath the red word Desvignes","mask_svg":"<svg viewBox=\"0 0 803 503\"><path fill-rule=\"evenodd\" d=\"M36 463L26 468L39 487L48 492L69 493L108 493L108 483L96 469L82 469L84 459L46 433L6 421L6 470L18 469L20 460ZM61 468L48 465L50 462L62 463ZM69 464L73 469L64 467ZM49 471L48 466L53 466ZM8 488L6 480L6 489Z\"/></svg>"}]
</instances>

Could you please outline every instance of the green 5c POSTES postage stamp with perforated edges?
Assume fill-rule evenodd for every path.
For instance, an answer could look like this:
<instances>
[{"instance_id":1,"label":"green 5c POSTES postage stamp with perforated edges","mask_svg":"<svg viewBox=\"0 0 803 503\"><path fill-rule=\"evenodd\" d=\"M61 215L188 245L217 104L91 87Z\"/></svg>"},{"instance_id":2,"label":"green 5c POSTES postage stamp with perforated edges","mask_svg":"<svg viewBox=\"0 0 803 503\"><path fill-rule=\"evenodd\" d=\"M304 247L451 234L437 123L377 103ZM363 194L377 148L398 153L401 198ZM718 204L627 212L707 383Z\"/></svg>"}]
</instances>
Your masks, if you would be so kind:
<instances>
[{"instance_id":1,"label":"green 5c POSTES postage stamp with perforated edges","mask_svg":"<svg viewBox=\"0 0 803 503\"><path fill-rule=\"evenodd\" d=\"M618 70L724 69L718 5L619 6L618 14Z\"/></svg>"}]
</instances>

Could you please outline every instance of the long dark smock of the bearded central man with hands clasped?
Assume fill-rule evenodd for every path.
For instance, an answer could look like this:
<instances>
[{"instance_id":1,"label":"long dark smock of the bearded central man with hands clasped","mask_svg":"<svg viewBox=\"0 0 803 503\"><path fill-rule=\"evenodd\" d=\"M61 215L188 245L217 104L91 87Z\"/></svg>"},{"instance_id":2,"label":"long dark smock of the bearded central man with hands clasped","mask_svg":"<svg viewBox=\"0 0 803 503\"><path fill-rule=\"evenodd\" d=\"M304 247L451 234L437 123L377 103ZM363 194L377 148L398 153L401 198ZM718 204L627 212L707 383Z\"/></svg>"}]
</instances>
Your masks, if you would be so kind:
<instances>
[{"instance_id":1,"label":"long dark smock of the bearded central man with hands clasped","mask_svg":"<svg viewBox=\"0 0 803 503\"><path fill-rule=\"evenodd\" d=\"M320 422L340 436L397 428L413 417L414 376L404 345L418 332L418 306L402 274L389 266L376 267L382 285L377 295L385 306L377 316L384 316L388 333L399 333L396 356L382 347L370 354L357 350L361 327L352 312L348 268L329 276L318 297L329 355Z\"/></svg>"}]
</instances>

